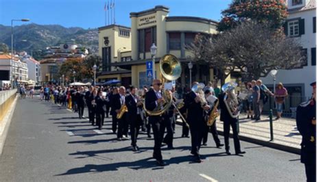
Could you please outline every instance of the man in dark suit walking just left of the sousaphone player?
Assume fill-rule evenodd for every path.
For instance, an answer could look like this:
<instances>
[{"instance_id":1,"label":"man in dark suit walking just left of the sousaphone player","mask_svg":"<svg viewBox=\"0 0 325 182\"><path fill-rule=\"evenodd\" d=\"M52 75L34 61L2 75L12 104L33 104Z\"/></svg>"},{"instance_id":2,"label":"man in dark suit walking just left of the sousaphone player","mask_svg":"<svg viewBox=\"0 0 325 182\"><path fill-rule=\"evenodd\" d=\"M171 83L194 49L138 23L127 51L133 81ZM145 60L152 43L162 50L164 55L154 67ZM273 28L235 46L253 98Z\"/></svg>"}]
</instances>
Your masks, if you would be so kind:
<instances>
[{"instance_id":1,"label":"man in dark suit walking just left of the sousaphone player","mask_svg":"<svg viewBox=\"0 0 325 182\"><path fill-rule=\"evenodd\" d=\"M130 87L130 94L125 97L125 104L128 107L127 120L130 124L130 133L131 133L131 145L132 151L138 151L139 147L136 145L136 138L139 135L139 129L142 125L142 120L140 116L141 101L139 96L136 95L138 89L134 86Z\"/></svg>"}]
</instances>

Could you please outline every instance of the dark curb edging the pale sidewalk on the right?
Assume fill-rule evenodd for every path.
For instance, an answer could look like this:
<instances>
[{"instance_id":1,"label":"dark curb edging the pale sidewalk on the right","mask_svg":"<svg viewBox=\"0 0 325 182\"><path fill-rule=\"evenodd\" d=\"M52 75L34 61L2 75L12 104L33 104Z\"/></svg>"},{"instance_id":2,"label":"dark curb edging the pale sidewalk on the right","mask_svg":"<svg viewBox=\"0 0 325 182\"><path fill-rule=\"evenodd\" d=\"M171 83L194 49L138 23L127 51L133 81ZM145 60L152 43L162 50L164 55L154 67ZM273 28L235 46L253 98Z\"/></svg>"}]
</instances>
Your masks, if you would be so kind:
<instances>
[{"instance_id":1,"label":"dark curb edging the pale sidewalk on the right","mask_svg":"<svg viewBox=\"0 0 325 182\"><path fill-rule=\"evenodd\" d=\"M176 124L177 125L182 125L182 122L180 120L176 120ZM221 130L217 130L217 131L218 131L218 134L224 135L224 131L221 131ZM230 133L230 137L232 138L232 133ZM276 144L275 142L272 142L272 141L264 141L264 140L258 140L258 139L255 139L255 138L249 138L249 137L246 137L246 136L243 136L243 135L240 135L240 134L238 135L238 137L239 137L239 140L243 140L245 142L259 144L259 145L262 145L262 146L267 146L269 148L275 148L275 149L278 149L280 151L286 151L286 152L289 152L289 153L295 153L295 154L300 155L300 148L294 148L294 147L291 147L291 146Z\"/></svg>"}]
</instances>

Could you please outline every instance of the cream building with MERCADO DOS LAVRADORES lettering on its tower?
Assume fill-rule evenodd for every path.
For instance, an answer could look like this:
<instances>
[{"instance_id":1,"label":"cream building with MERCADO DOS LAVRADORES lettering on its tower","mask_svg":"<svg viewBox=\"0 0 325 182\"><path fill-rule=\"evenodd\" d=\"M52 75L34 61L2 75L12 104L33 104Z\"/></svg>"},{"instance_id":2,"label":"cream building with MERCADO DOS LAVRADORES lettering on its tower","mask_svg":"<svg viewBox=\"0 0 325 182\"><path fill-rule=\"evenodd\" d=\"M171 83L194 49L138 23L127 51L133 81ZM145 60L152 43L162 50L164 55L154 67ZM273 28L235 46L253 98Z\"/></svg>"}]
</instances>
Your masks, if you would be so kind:
<instances>
[{"instance_id":1,"label":"cream building with MERCADO DOS LAVRADORES lettering on its tower","mask_svg":"<svg viewBox=\"0 0 325 182\"><path fill-rule=\"evenodd\" d=\"M189 86L188 57L185 44L193 42L196 34L217 34L217 22L192 16L168 16L169 8L157 5L142 12L131 12L131 27L108 25L99 27L99 56L102 59L98 81L119 79L123 86L149 86L146 62L152 60L150 47L155 43L156 77L160 79L160 57L171 53L178 57L182 75L176 81L179 86ZM193 80L210 81L213 68L193 63Z\"/></svg>"}]
</instances>

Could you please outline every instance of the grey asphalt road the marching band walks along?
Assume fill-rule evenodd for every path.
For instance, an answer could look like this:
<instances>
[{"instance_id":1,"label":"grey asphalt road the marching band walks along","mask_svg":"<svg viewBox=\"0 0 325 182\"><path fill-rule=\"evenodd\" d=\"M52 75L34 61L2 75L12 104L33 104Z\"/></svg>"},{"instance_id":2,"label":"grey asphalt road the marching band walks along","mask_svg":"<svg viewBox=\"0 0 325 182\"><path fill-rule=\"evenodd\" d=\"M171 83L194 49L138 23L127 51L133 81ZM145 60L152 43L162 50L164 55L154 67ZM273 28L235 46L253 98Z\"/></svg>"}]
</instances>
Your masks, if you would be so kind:
<instances>
[{"instance_id":1,"label":"grey asphalt road the marching band walks along","mask_svg":"<svg viewBox=\"0 0 325 182\"><path fill-rule=\"evenodd\" d=\"M209 134L208 146L201 148L204 162L196 164L191 162L190 138L180 138L177 126L176 149L163 146L168 165L158 167L152 158L154 140L144 133L139 135L140 151L133 152L130 140L115 140L110 122L96 129L53 103L19 100L0 158L0 181L306 180L299 155L273 148L241 142L245 155L226 155ZM230 144L232 149L232 140Z\"/></svg>"}]
</instances>

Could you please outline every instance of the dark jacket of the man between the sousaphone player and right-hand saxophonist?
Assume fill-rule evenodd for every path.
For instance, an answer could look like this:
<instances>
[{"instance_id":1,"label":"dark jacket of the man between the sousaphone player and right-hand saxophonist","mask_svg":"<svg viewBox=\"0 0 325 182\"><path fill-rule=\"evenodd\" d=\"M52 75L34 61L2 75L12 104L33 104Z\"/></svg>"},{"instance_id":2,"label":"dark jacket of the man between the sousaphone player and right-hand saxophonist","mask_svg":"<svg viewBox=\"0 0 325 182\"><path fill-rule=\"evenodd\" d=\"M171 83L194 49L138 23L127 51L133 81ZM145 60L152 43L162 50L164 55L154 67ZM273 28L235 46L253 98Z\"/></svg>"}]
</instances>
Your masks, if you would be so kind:
<instances>
[{"instance_id":1,"label":"dark jacket of the man between the sousaphone player and right-hand saxophonist","mask_svg":"<svg viewBox=\"0 0 325 182\"><path fill-rule=\"evenodd\" d=\"M191 91L185 96L184 107L188 109L187 121L189 124L202 124L204 118L204 110L200 103L195 102L196 94ZM202 123L201 123L202 122Z\"/></svg>"}]
</instances>

